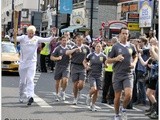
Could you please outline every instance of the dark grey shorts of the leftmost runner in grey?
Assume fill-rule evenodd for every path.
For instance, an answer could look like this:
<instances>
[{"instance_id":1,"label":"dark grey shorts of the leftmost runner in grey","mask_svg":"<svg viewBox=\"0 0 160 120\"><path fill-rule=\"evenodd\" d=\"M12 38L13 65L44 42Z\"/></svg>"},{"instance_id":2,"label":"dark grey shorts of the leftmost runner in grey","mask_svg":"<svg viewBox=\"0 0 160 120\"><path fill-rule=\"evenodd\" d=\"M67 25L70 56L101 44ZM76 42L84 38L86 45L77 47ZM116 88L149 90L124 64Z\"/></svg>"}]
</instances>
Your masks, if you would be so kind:
<instances>
[{"instance_id":1,"label":"dark grey shorts of the leftmost runner in grey","mask_svg":"<svg viewBox=\"0 0 160 120\"><path fill-rule=\"evenodd\" d=\"M61 80L64 77L69 78L69 69L65 67L55 67L54 79Z\"/></svg>"}]
</instances>

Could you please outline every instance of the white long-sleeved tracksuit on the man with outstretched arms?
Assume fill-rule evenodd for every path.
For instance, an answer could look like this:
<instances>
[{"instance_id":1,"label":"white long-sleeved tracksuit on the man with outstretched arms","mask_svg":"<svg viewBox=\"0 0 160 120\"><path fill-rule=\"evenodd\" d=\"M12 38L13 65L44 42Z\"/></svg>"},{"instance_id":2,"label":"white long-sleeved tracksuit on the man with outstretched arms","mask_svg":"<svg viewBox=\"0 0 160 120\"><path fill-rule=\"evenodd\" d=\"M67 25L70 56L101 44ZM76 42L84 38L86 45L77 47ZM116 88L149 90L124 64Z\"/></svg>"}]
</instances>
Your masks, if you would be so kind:
<instances>
[{"instance_id":1,"label":"white long-sleeved tracksuit on the man with outstretched arms","mask_svg":"<svg viewBox=\"0 0 160 120\"><path fill-rule=\"evenodd\" d=\"M17 37L20 42L20 65L19 65L19 92L21 95L26 95L27 98L34 96L34 76L36 73L37 48L40 42L50 42L52 37L42 38L33 36L28 38L28 35Z\"/></svg>"}]
</instances>

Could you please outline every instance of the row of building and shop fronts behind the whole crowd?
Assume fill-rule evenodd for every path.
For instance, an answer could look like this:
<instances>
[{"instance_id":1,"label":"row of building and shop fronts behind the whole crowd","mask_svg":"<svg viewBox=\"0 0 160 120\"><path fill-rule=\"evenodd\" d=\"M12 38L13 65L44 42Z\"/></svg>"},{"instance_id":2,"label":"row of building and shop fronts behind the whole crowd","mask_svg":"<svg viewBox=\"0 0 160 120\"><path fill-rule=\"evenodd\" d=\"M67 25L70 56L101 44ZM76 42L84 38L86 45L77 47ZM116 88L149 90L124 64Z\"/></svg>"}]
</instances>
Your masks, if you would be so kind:
<instances>
[{"instance_id":1,"label":"row of building and shop fronts behind the whole crowd","mask_svg":"<svg viewBox=\"0 0 160 120\"><path fill-rule=\"evenodd\" d=\"M127 12L139 13L139 0L93 0L92 10L92 0L73 0L72 14L59 13L59 1L60 0L2 0L2 31L4 34L8 34L8 31L12 32L12 12L13 10L16 10L20 11L18 26L20 32L23 32L27 26L33 24L37 27L37 30L40 33L47 33L48 5L50 5L51 10L52 26L57 26L59 29L72 25L85 26L92 29L93 37L100 35L102 23L107 23L110 20L126 21L126 14L128 14ZM157 2L158 0L155 1ZM157 4L158 3L155 5ZM132 8L131 11L127 11L128 7ZM158 16L157 13L155 16ZM158 17L154 17L152 23L153 29L158 29ZM134 27L139 26L138 22L136 24L131 23L130 25ZM144 32L147 31L147 29L150 28L143 29Z\"/></svg>"}]
</instances>

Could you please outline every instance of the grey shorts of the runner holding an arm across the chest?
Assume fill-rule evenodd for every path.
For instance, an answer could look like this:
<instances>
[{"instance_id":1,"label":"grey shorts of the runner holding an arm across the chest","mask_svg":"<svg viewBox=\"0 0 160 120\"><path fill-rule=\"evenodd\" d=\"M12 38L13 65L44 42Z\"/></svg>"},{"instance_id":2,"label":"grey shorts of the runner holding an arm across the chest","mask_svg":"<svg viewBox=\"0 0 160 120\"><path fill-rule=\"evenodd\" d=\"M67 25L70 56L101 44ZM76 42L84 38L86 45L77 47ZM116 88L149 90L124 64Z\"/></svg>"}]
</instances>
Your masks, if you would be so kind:
<instances>
[{"instance_id":1,"label":"grey shorts of the runner holding an arm across the chest","mask_svg":"<svg viewBox=\"0 0 160 120\"><path fill-rule=\"evenodd\" d=\"M76 82L76 81L79 81L79 80L83 80L84 81L85 77L86 77L86 73L85 72L72 73L71 74L72 82Z\"/></svg>"}]
</instances>

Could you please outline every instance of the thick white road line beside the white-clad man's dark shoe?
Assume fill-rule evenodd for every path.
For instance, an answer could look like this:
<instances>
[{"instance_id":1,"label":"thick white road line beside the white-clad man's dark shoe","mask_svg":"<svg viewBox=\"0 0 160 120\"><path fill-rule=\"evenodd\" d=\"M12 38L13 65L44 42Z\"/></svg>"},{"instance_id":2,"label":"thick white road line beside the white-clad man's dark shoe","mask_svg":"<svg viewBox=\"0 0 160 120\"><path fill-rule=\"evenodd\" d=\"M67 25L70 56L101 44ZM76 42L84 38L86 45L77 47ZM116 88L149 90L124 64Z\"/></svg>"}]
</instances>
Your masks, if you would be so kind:
<instances>
[{"instance_id":1,"label":"thick white road line beside the white-clad man's dark shoe","mask_svg":"<svg viewBox=\"0 0 160 120\"><path fill-rule=\"evenodd\" d=\"M34 101L43 108L53 108L51 105L49 105L47 102L45 102L42 98L38 97L37 95L35 95L34 97Z\"/></svg>"}]
</instances>

